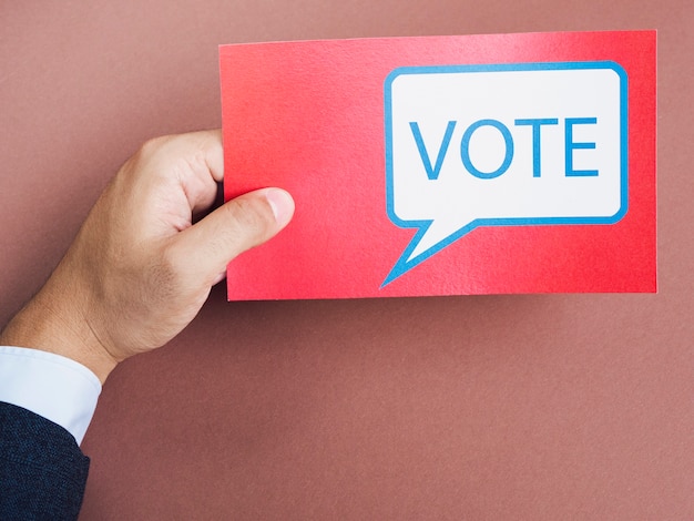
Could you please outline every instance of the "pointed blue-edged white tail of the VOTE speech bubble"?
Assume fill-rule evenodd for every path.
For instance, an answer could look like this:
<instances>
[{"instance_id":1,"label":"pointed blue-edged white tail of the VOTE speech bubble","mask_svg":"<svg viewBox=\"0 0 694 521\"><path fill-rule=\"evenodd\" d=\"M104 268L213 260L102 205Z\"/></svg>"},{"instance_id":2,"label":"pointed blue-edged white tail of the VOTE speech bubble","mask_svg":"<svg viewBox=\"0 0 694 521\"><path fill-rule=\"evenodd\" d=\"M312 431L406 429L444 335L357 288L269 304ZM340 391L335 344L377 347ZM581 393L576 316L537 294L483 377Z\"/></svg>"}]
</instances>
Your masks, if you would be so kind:
<instances>
[{"instance_id":1,"label":"pointed blue-edged white tail of the VOTE speech bubble","mask_svg":"<svg viewBox=\"0 0 694 521\"><path fill-rule=\"evenodd\" d=\"M407 245L400 258L395 263L380 288L382 289L396 278L405 275L405 273L418 264L423 263L427 258L471 232L474 227L476 224L473 222L462 227L451 227L441 221L420 223L419 231Z\"/></svg>"}]
</instances>

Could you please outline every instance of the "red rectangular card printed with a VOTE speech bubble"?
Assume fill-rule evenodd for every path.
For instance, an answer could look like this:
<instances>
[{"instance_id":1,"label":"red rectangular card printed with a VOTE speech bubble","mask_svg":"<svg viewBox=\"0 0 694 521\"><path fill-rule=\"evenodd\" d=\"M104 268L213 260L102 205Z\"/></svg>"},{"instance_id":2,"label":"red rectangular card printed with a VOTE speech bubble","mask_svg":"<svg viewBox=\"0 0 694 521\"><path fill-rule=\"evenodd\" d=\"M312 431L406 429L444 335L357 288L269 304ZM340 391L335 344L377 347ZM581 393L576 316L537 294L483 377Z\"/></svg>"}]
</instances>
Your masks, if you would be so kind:
<instances>
[{"instance_id":1,"label":"red rectangular card printed with a VOTE speech bubble","mask_svg":"<svg viewBox=\"0 0 694 521\"><path fill-rule=\"evenodd\" d=\"M222 45L229 300L655 292L655 32Z\"/></svg>"}]
</instances>

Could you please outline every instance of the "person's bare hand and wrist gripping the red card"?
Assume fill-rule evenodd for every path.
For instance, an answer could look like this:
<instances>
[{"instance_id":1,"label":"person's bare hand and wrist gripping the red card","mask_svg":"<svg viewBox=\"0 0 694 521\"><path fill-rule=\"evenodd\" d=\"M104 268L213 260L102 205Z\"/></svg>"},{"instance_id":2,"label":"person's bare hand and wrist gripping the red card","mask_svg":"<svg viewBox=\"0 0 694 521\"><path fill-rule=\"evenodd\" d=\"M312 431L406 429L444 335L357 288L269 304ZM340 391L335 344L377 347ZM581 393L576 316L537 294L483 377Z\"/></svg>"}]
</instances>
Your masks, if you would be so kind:
<instances>
[{"instance_id":1,"label":"person's bare hand and wrist gripping the red card","mask_svg":"<svg viewBox=\"0 0 694 521\"><path fill-rule=\"evenodd\" d=\"M289 194L264 188L193 224L222 177L218 131L145 143L0 343L67 356L102 382L118 362L166 344L197 315L227 263L293 216Z\"/></svg>"}]
</instances>

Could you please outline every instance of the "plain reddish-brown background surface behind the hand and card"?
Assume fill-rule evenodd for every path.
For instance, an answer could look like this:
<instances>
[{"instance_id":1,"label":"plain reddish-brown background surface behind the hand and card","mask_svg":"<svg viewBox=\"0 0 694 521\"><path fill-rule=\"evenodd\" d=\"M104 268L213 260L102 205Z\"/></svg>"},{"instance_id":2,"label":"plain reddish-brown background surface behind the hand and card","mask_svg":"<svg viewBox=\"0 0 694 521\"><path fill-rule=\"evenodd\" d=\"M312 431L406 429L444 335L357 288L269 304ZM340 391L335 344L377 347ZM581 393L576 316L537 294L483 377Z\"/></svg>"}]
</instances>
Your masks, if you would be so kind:
<instances>
[{"instance_id":1,"label":"plain reddish-brown background surface behind the hand and card","mask_svg":"<svg viewBox=\"0 0 694 521\"><path fill-rule=\"evenodd\" d=\"M0 3L0 323L217 44L659 29L657 295L227 304L103 390L82 518L694 519L691 0Z\"/></svg>"}]
</instances>

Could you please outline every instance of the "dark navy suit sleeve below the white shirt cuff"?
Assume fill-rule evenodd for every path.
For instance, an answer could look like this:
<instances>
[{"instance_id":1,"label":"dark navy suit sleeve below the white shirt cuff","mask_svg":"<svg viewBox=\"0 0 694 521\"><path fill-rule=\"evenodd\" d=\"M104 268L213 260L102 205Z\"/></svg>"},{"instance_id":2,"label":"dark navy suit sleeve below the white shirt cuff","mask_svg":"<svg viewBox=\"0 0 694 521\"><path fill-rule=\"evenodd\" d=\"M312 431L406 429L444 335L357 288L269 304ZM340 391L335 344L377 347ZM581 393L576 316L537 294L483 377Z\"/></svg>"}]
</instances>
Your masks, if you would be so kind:
<instances>
[{"instance_id":1,"label":"dark navy suit sleeve below the white shirt cuff","mask_svg":"<svg viewBox=\"0 0 694 521\"><path fill-rule=\"evenodd\" d=\"M76 519L88 471L70 432L0 402L0 519Z\"/></svg>"}]
</instances>

